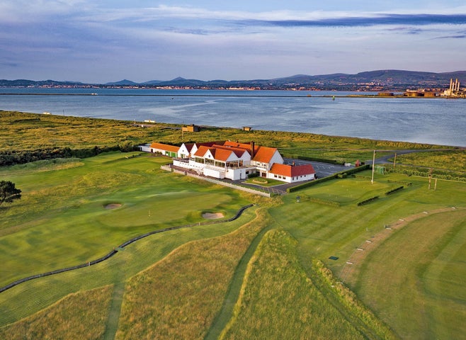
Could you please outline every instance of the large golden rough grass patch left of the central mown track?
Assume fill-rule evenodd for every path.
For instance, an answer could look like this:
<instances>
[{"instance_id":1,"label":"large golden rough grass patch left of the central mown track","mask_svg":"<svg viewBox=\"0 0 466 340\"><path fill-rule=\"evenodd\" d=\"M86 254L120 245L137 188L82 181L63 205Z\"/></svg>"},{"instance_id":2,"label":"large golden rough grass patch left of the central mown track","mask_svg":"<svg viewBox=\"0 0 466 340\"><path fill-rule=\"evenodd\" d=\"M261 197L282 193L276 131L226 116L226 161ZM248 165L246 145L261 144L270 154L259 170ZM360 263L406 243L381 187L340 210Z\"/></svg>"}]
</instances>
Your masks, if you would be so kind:
<instances>
[{"instance_id":1,"label":"large golden rough grass patch left of the central mown track","mask_svg":"<svg viewBox=\"0 0 466 340\"><path fill-rule=\"evenodd\" d=\"M127 283L116 339L203 339L252 239L256 219L222 237L191 242Z\"/></svg>"}]
</instances>

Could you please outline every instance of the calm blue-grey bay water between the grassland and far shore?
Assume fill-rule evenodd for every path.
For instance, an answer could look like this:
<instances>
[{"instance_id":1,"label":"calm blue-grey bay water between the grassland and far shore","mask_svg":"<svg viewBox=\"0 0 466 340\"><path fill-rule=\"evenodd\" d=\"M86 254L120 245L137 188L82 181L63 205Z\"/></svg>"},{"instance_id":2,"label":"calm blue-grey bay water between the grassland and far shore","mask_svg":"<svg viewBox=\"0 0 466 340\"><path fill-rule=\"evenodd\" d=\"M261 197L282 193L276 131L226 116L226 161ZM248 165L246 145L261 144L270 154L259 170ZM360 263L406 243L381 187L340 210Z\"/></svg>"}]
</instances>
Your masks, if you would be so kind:
<instances>
[{"instance_id":1,"label":"calm blue-grey bay water between the grassland and far shore","mask_svg":"<svg viewBox=\"0 0 466 340\"><path fill-rule=\"evenodd\" d=\"M0 93L4 111L466 147L464 99L367 98L336 91L15 88Z\"/></svg>"}]
</instances>

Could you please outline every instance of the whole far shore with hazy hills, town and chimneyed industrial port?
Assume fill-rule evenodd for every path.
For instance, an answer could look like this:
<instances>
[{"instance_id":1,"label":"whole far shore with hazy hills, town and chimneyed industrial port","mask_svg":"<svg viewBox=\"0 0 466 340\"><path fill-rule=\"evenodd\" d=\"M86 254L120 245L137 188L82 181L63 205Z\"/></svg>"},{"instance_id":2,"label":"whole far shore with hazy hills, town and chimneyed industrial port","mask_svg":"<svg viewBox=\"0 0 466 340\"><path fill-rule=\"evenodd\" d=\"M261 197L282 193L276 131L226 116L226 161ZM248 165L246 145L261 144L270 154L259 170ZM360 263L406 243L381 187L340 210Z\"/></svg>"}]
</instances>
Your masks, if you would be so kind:
<instances>
[{"instance_id":1,"label":"whole far shore with hazy hills, town and chimneyed industrial port","mask_svg":"<svg viewBox=\"0 0 466 340\"><path fill-rule=\"evenodd\" d=\"M403 70L379 70L358 74L326 74L309 76L299 74L292 77L254 80L184 79L170 81L145 81L137 83L127 79L106 84L85 84L74 81L33 81L0 79L0 87L44 88L44 89L217 89L217 90L288 90L288 91L361 91L391 92L404 96L456 96L464 97L461 87L466 71L458 72L414 72Z\"/></svg>"}]
</instances>

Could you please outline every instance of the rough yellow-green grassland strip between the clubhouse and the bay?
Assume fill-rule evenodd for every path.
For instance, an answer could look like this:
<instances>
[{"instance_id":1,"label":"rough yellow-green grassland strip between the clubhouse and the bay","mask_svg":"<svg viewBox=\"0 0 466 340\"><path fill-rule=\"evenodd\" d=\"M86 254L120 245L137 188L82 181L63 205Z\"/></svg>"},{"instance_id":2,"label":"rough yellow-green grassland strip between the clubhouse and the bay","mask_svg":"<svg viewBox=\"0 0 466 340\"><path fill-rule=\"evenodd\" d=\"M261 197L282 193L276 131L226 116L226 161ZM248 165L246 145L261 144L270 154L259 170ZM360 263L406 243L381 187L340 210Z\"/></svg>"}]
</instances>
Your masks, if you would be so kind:
<instances>
[{"instance_id":1,"label":"rough yellow-green grassland strip between the clubhouse and the bay","mask_svg":"<svg viewBox=\"0 0 466 340\"><path fill-rule=\"evenodd\" d=\"M140 128L133 126L133 122L125 120L0 111L0 135L4 137L0 140L0 150L137 145L152 141L181 144L181 142L190 141L254 140L256 145L278 147L285 154L353 162L356 159L372 159L371 152L374 149L431 149L433 147L433 145L408 142L300 132L243 131L234 128L203 128L200 132L186 132L183 138L176 128L181 128L181 125L155 123L151 127Z\"/></svg>"}]
</instances>

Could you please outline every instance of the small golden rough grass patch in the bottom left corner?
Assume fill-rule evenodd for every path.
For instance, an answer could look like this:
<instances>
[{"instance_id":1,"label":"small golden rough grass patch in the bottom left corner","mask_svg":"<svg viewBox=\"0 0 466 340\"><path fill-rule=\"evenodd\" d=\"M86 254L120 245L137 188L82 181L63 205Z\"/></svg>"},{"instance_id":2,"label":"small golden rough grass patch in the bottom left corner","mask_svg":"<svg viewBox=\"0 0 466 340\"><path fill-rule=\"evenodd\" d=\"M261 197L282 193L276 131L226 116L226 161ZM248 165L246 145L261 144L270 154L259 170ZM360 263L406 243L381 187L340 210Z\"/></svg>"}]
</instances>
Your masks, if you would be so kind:
<instances>
[{"instance_id":1,"label":"small golden rough grass patch in the bottom left corner","mask_svg":"<svg viewBox=\"0 0 466 340\"><path fill-rule=\"evenodd\" d=\"M102 339L113 287L67 295L54 305L0 328L0 339Z\"/></svg>"}]
</instances>

